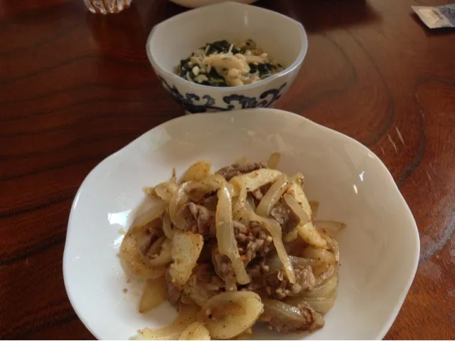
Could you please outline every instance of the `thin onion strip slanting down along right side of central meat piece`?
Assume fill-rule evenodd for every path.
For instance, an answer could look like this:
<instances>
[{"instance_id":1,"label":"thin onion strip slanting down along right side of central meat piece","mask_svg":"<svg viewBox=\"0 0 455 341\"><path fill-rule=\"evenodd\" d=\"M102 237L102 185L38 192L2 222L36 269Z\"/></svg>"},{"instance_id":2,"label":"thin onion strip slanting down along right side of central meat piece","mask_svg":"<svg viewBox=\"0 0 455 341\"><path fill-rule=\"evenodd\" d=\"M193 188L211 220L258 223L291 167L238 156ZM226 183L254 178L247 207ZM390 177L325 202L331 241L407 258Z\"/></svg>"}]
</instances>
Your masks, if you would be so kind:
<instances>
[{"instance_id":1,"label":"thin onion strip slanting down along right side of central meat piece","mask_svg":"<svg viewBox=\"0 0 455 341\"><path fill-rule=\"evenodd\" d=\"M284 243L282 241L282 226L279 226L277 221L274 219L263 218L262 216L258 216L255 214L254 211L248 206L247 207L249 213L250 221L257 221L259 224L262 224L269 234L272 236L273 243L275 248L277 249L277 253L279 259L282 261L284 272L287 274L287 278L291 284L296 283L296 276L294 274L294 268L292 268L291 260L284 248Z\"/></svg>"}]
</instances>

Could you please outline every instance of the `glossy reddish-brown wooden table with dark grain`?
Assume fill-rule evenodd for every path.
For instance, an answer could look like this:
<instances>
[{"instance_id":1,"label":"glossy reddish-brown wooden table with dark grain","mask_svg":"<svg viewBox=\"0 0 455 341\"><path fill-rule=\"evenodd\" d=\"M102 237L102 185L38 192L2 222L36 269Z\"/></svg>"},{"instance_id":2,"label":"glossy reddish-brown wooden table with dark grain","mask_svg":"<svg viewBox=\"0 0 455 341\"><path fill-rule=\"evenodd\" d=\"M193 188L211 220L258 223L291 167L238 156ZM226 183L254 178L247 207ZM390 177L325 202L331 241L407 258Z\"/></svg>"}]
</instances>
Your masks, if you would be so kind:
<instances>
[{"instance_id":1,"label":"glossy reddish-brown wooden table with dark grain","mask_svg":"<svg viewBox=\"0 0 455 341\"><path fill-rule=\"evenodd\" d=\"M372 149L414 213L421 261L390 339L455 338L455 29L429 31L410 7L448 2L257 3L309 33L277 107ZM151 28L183 10L136 0L96 16L82 0L0 1L1 339L92 338L63 285L70 205L98 162L183 114L144 50Z\"/></svg>"}]
</instances>

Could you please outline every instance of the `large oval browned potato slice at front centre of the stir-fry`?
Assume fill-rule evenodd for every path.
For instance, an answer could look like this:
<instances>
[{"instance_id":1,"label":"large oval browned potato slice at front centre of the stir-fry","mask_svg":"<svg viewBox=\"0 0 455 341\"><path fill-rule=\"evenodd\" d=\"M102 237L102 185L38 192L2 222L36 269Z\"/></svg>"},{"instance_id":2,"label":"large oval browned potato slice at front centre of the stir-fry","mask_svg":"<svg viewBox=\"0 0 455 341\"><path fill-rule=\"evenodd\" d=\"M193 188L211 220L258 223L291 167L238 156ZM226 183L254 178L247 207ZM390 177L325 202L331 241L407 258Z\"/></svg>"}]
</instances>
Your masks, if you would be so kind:
<instances>
[{"instance_id":1,"label":"large oval browned potato slice at front centre of the stir-fry","mask_svg":"<svg viewBox=\"0 0 455 341\"><path fill-rule=\"evenodd\" d=\"M264 311L257 293L230 291L210 298L198 314L210 336L227 340L249 330Z\"/></svg>"}]
</instances>

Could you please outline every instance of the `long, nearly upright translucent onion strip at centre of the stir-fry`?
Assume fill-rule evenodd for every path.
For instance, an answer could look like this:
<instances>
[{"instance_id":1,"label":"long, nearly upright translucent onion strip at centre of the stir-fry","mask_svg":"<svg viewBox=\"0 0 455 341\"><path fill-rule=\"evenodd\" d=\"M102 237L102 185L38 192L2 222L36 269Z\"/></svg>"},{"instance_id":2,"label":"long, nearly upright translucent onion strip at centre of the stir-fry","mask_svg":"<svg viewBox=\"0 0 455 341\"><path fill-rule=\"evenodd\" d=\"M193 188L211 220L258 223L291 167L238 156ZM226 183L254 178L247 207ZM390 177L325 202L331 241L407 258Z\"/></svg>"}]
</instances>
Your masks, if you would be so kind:
<instances>
[{"instance_id":1,"label":"long, nearly upright translucent onion strip at centre of the stir-fry","mask_svg":"<svg viewBox=\"0 0 455 341\"><path fill-rule=\"evenodd\" d=\"M237 282L240 284L250 283L245 265L240 259L237 241L234 236L234 229L232 227L232 198L226 184L223 184L218 190L218 205L216 207L215 221L216 238L220 253L230 258Z\"/></svg>"}]
</instances>

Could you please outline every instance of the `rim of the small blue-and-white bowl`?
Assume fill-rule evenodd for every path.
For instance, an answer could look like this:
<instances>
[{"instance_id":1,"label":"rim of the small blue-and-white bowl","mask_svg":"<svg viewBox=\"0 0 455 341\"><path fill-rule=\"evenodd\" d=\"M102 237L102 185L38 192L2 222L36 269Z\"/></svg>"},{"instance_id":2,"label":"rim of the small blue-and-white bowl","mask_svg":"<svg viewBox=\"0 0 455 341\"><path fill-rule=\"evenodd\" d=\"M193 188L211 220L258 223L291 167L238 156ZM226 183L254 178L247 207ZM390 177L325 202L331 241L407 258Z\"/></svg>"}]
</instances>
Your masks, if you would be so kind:
<instances>
[{"instance_id":1,"label":"rim of the small blue-and-white bowl","mask_svg":"<svg viewBox=\"0 0 455 341\"><path fill-rule=\"evenodd\" d=\"M291 63L291 65L289 65L287 68L285 68L284 70L280 71L279 73L275 73L274 75L271 75L270 77L267 77L267 78L265 78L263 80L259 80L256 83L252 83L252 84L240 85L240 86L228 86L228 87L215 87L215 86L202 85L202 84L190 82L190 81L186 80L185 78L181 78L180 76L176 75L175 73L166 70L166 68L163 68L159 63L156 62L156 60L155 60L155 58L153 56L153 53L151 52L151 39L153 38L154 33L155 33L157 28L159 28L164 23L168 23L170 21L176 20L177 18L182 18L184 16L189 16L189 15L192 14L192 12L201 11L201 10L207 9L209 7L215 8L215 7L218 7L218 6L239 6L239 7L247 6L247 7L255 7L259 11L270 12L274 16L281 17L282 19L285 19L287 21L293 21L297 25L297 27L299 28L300 36L301 36L301 39L302 39L301 48L300 48L300 51L299 51L299 56L297 56L297 58L295 58L294 62ZM181 14L177 14L176 16L171 16L171 18L166 19L165 21L161 21L161 23L155 25L154 28L151 29L151 32L149 33L149 37L147 38L147 41L146 41L147 57L149 58L149 61L152 64L152 66L155 66L156 68L158 68L160 73L164 73L168 77L173 78L175 80L181 80L181 81L183 81L183 83L191 84L191 86L193 86L196 89L200 89L200 90L203 90L203 89L215 90L216 89L216 90L218 90L220 92L223 92L223 93L230 93L232 91L231 89L248 90L248 89L251 89L251 88L256 88L259 85L265 85L267 83L272 82L273 80L275 80L277 78L282 77L283 75L287 75L287 74L293 72L294 70L296 70L296 68L299 68L299 65L301 65L301 63L304 61L304 58L306 56L306 52L307 51L308 51L308 36L306 35L306 31L305 31L304 26L299 21L296 21L296 20L290 18L289 16L285 16L284 14L278 13L276 11L272 11L270 9L264 9L262 7L259 7L259 6L238 3L238 2L235 2L235 1L218 2L217 4L210 4L210 5L198 7L196 9L191 9L191 10L185 11L185 12L183 12Z\"/></svg>"}]
</instances>

